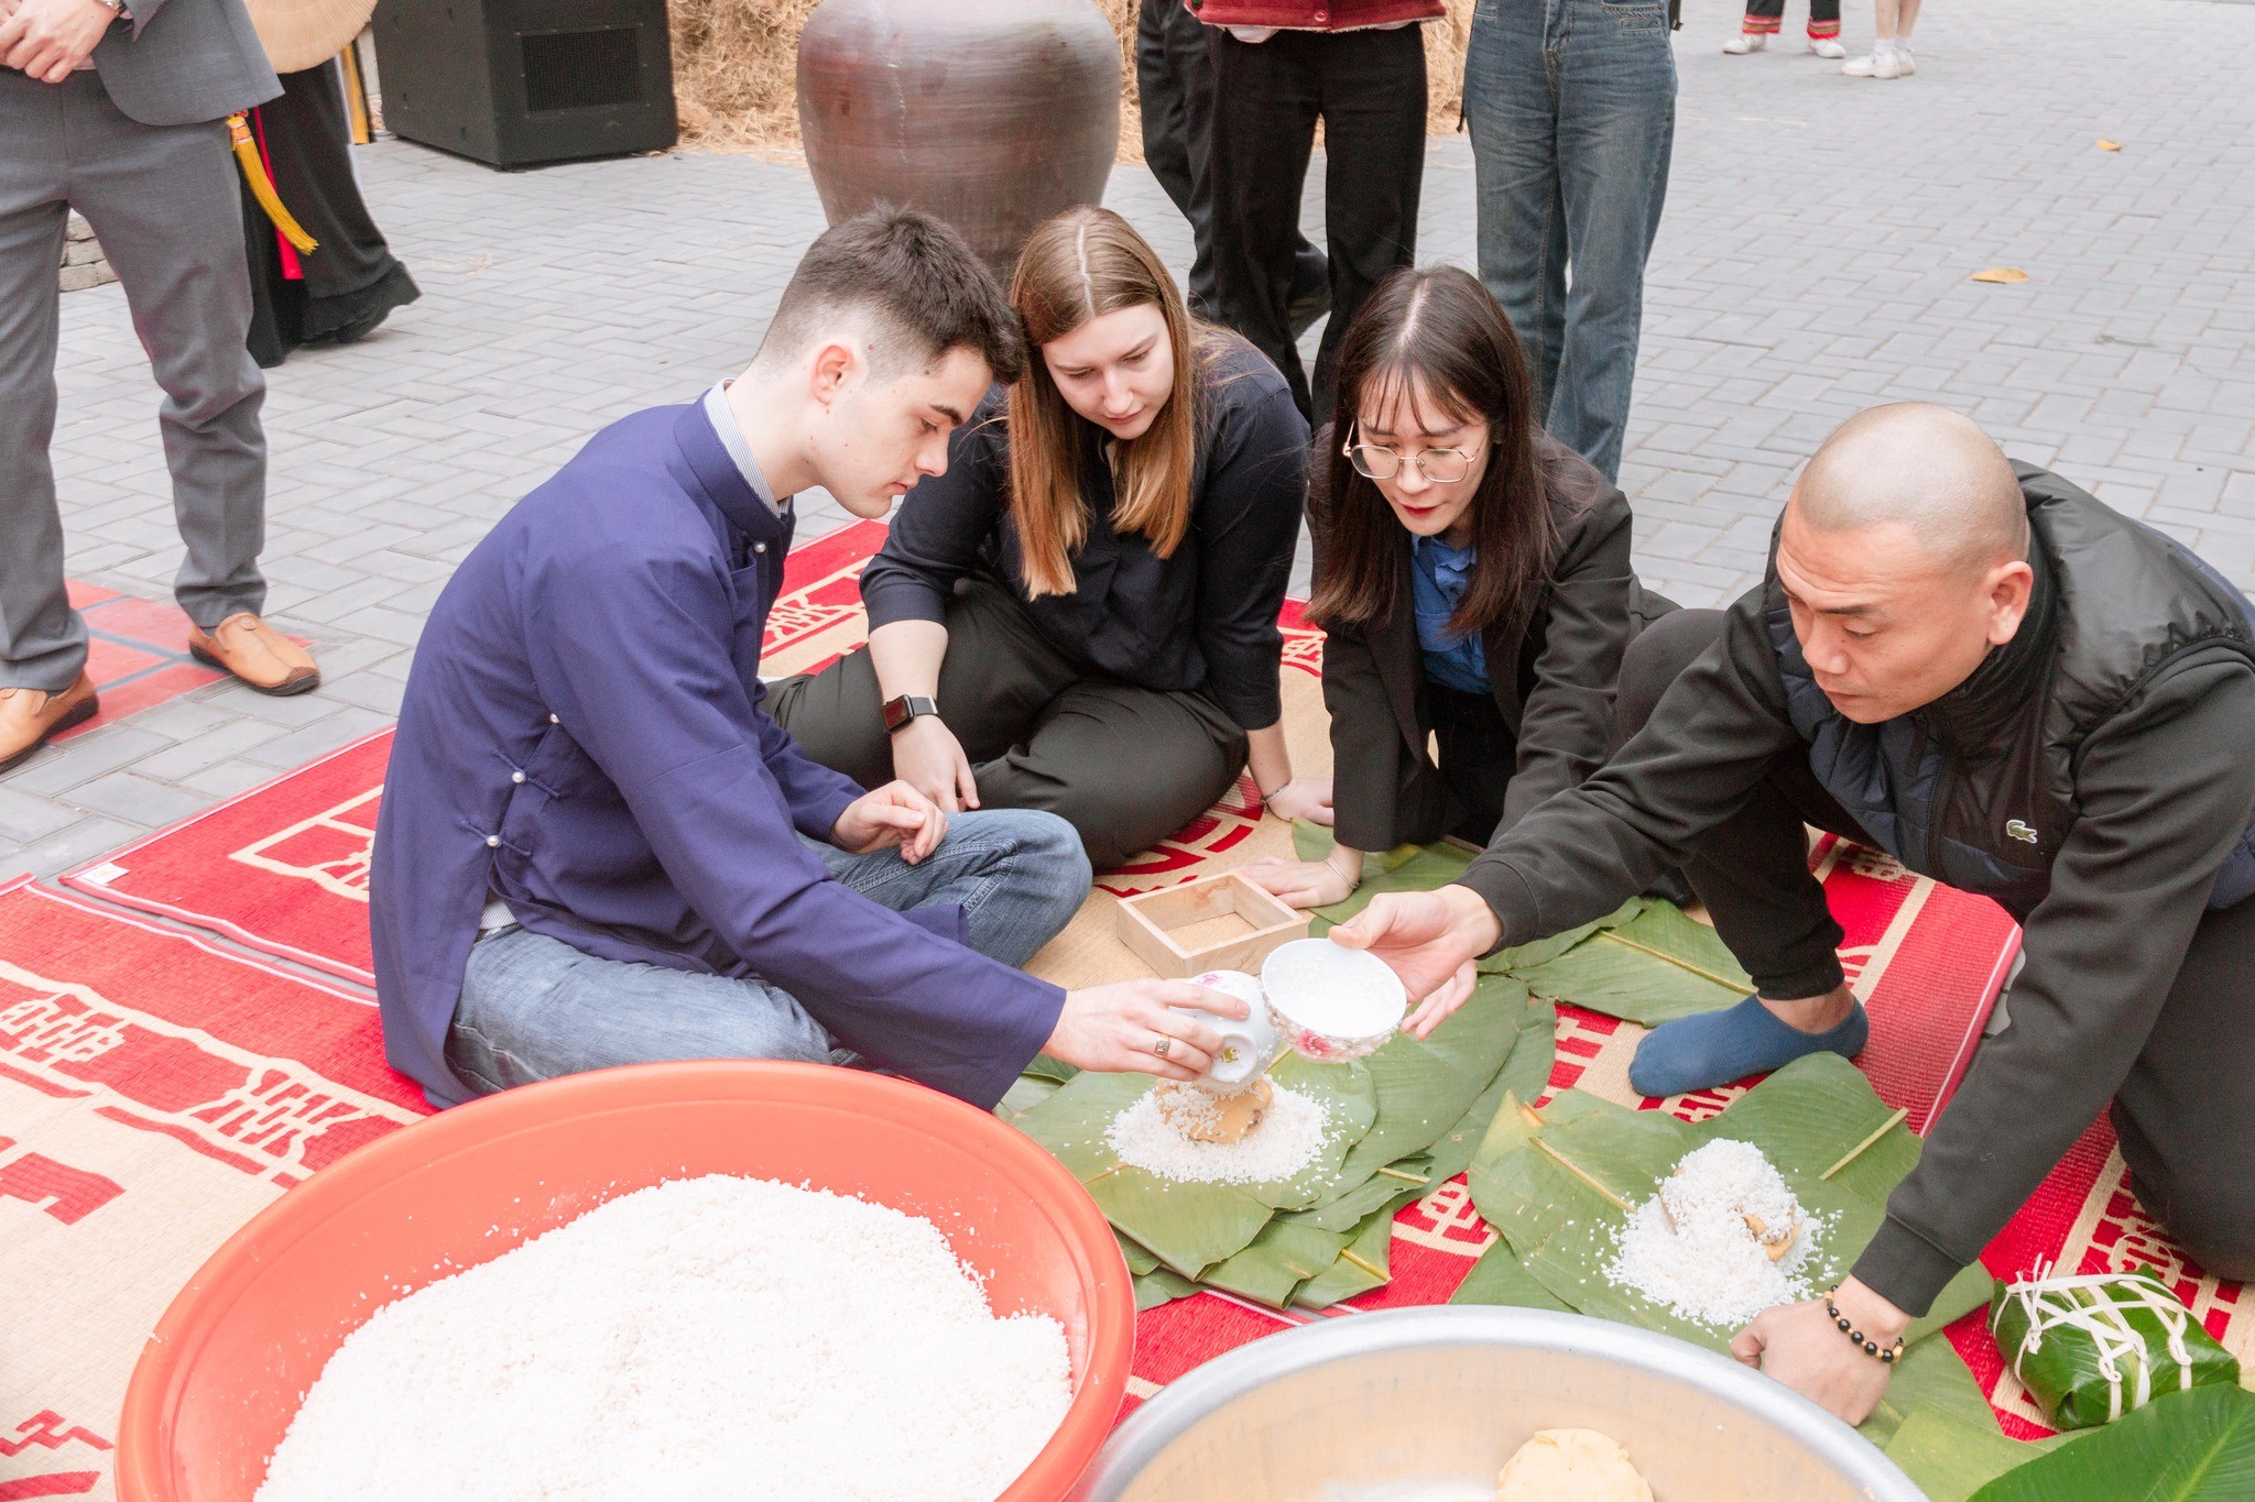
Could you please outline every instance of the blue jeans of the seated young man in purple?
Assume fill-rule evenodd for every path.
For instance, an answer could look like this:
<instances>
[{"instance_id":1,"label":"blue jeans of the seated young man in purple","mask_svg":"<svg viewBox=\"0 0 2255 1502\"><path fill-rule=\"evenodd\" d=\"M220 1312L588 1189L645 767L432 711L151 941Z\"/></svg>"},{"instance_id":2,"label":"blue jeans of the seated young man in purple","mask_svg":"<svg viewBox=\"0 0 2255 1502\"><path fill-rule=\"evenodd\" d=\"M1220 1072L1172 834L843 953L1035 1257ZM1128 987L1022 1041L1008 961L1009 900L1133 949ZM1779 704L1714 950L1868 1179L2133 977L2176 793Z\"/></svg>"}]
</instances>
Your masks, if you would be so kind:
<instances>
[{"instance_id":1,"label":"blue jeans of the seated young man in purple","mask_svg":"<svg viewBox=\"0 0 2255 1502\"><path fill-rule=\"evenodd\" d=\"M1053 813L956 813L920 865L897 851L848 856L805 842L861 896L895 912L963 908L974 950L1022 966L1089 894L1080 835ZM798 1000L731 980L582 955L525 928L469 950L446 1063L478 1094L559 1074L674 1058L852 1063Z\"/></svg>"}]
</instances>

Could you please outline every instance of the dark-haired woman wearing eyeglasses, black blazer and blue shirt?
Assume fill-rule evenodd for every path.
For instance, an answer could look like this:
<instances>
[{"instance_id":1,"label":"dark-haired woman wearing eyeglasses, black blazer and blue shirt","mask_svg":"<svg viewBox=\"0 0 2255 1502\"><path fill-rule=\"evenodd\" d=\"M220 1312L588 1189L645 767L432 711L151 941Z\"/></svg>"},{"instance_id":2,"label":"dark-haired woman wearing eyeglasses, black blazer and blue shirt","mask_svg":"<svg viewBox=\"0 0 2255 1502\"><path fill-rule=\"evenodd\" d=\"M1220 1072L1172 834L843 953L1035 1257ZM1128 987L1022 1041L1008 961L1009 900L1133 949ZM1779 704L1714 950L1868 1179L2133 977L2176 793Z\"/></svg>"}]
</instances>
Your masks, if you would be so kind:
<instances>
[{"instance_id":1,"label":"dark-haired woman wearing eyeglasses, black blazer and blue shirt","mask_svg":"<svg viewBox=\"0 0 2255 1502\"><path fill-rule=\"evenodd\" d=\"M1628 565L1628 500L1542 435L1520 342L1452 266L1389 277L1339 347L1315 439L1337 847L1247 876L1344 901L1364 853L1486 844L1612 748L1621 651L1671 610Z\"/></svg>"}]
</instances>

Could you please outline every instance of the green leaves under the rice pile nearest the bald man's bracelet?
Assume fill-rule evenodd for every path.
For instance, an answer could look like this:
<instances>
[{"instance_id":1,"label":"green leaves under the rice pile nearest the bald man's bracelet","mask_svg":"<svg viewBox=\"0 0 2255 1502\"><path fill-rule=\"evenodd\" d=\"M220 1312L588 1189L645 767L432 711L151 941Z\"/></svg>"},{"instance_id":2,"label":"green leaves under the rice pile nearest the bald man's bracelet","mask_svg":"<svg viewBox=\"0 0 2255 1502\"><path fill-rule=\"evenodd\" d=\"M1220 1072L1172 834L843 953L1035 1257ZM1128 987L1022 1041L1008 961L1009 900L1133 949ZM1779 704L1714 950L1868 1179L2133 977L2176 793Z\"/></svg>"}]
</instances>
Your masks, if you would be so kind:
<instances>
[{"instance_id":1,"label":"green leaves under the rice pile nearest the bald man's bracelet","mask_svg":"<svg viewBox=\"0 0 2255 1502\"><path fill-rule=\"evenodd\" d=\"M1793 1187L1802 1207L1827 1218L1824 1243L1806 1277L1827 1288L1878 1230L1887 1191L1919 1160L1919 1139L1869 1081L1836 1054L1795 1061L1707 1121L1664 1110L1624 1110L1567 1090L1542 1112L1504 1101L1473 1157L1473 1205L1497 1241L1457 1293L1459 1304L1572 1308L1662 1331L1712 1351L1734 1331L1684 1320L1606 1279L1615 1232L1628 1205L1651 1198L1675 1162L1714 1139L1752 1142ZM1865 1423L1885 1439L1919 1403L1996 1432L1971 1371L1935 1338L1944 1324L1987 1304L1989 1277L1969 1268L1912 1322L1887 1398Z\"/></svg>"}]
</instances>

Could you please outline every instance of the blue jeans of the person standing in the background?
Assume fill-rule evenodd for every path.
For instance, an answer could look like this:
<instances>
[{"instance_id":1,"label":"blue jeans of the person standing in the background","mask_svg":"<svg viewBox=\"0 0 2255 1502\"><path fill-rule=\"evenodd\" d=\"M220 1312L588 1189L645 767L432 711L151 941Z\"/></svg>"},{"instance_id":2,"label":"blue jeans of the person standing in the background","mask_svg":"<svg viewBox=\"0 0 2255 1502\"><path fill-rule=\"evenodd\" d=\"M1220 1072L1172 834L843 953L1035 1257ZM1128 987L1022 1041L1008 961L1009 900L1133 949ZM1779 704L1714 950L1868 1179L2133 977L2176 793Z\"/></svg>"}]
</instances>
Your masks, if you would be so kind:
<instances>
[{"instance_id":1,"label":"blue jeans of the person standing in the background","mask_svg":"<svg viewBox=\"0 0 2255 1502\"><path fill-rule=\"evenodd\" d=\"M1612 480L1675 146L1666 2L1479 0L1463 122L1479 279L1527 347L1545 428Z\"/></svg>"}]
</instances>

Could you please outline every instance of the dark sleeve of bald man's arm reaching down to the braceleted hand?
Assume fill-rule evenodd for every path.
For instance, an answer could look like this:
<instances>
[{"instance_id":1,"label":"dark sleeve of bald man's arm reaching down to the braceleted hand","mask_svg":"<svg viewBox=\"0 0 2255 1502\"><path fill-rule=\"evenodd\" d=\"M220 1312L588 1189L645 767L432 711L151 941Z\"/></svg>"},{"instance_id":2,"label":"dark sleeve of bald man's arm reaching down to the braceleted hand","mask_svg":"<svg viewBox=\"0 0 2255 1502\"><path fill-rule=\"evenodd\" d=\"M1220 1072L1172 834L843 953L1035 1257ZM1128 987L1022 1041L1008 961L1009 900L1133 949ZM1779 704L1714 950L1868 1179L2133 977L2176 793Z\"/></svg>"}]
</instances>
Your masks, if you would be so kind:
<instances>
[{"instance_id":1,"label":"dark sleeve of bald man's arm reaching down to the braceleted hand","mask_svg":"<svg viewBox=\"0 0 2255 1502\"><path fill-rule=\"evenodd\" d=\"M2084 743L2081 820L2027 917L2011 1022L1980 1045L1856 1261L1899 1308L1926 1313L2129 1076L2255 806L2250 723L2255 671L2210 660Z\"/></svg>"}]
</instances>

